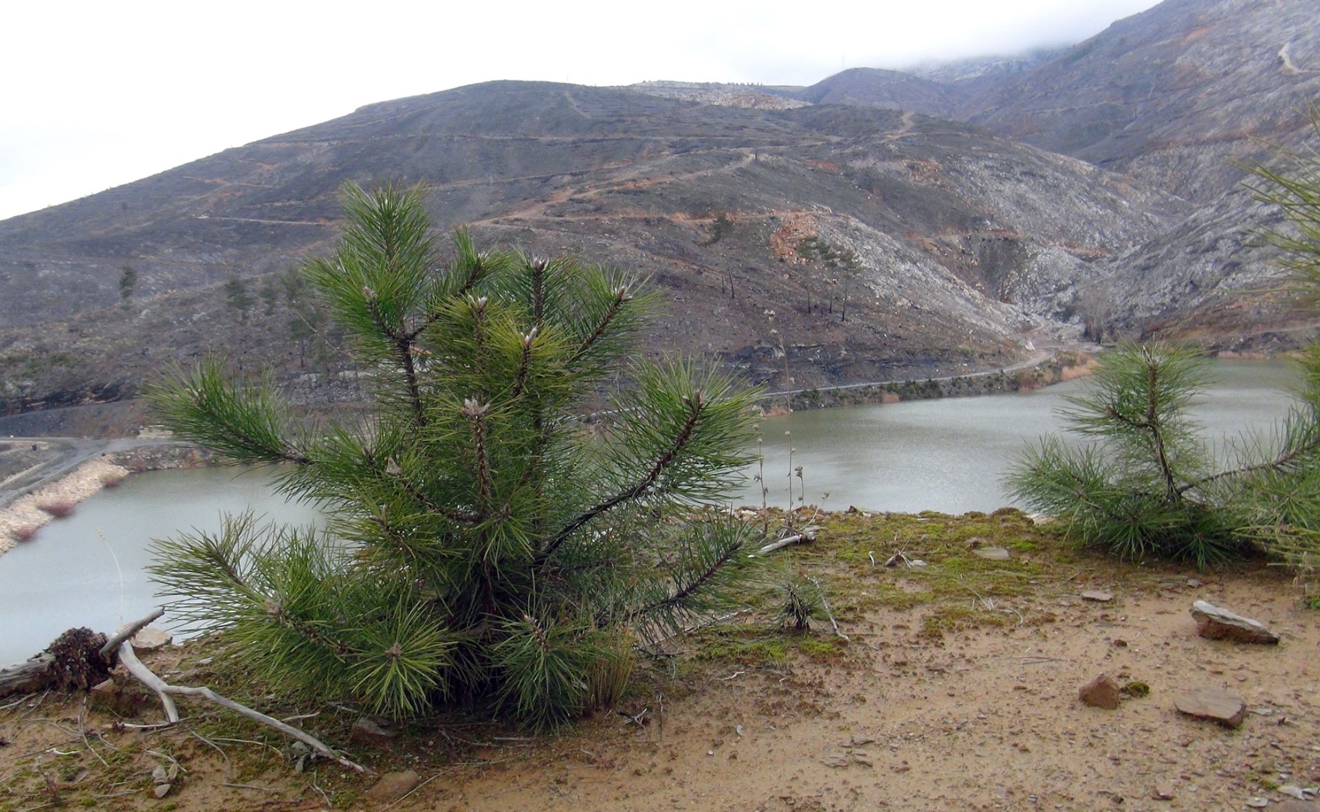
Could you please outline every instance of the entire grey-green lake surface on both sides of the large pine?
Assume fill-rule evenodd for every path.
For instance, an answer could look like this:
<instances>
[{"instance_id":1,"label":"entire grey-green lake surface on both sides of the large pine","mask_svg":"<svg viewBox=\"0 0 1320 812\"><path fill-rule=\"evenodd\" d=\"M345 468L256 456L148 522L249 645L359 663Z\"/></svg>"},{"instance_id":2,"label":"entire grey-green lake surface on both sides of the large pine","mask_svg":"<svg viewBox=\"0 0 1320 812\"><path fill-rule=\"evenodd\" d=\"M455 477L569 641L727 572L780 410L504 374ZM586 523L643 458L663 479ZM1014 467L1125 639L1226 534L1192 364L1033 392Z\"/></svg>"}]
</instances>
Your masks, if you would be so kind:
<instances>
[{"instance_id":1,"label":"entire grey-green lake surface on both sides of the large pine","mask_svg":"<svg viewBox=\"0 0 1320 812\"><path fill-rule=\"evenodd\" d=\"M1196 407L1210 436L1266 428L1287 412L1286 392L1296 380L1290 364L1218 362L1216 371L1220 383ZM808 503L833 510L993 511L1007 503L999 478L1014 454L1027 440L1057 429L1053 411L1082 386L1085 380L1074 380L1015 395L767 419L768 502L787 504L788 449L796 448L792 465L803 466ZM314 520L315 511L286 503L269 482L268 471L235 469L137 474L0 556L0 665L37 654L71 626L108 632L157 606L154 585L143 572L150 539L191 528L215 531L222 512L248 507L280 522ZM796 478L793 489L796 499ZM735 502L759 506L755 483Z\"/></svg>"}]
</instances>

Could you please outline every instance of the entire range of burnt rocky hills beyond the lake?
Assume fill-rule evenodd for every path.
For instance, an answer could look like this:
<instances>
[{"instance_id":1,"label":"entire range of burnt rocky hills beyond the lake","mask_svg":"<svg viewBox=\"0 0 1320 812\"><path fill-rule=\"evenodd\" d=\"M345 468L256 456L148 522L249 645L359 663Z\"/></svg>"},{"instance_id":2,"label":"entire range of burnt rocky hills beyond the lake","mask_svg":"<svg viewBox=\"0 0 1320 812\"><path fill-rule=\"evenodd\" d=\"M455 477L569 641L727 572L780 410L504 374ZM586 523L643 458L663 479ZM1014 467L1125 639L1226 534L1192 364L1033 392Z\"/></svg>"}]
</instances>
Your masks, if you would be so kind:
<instances>
[{"instance_id":1,"label":"entire range of burnt rocky hills beyond the lake","mask_svg":"<svg viewBox=\"0 0 1320 812\"><path fill-rule=\"evenodd\" d=\"M0 412L123 397L207 350L333 367L277 280L333 246L347 181L421 182L442 228L634 268L668 302L652 351L772 388L994 368L1084 321L1287 345L1305 320L1263 293L1257 236L1276 214L1230 158L1300 143L1312 5L1166 0L1060 51L807 88L496 82L372 104L0 222Z\"/></svg>"}]
</instances>

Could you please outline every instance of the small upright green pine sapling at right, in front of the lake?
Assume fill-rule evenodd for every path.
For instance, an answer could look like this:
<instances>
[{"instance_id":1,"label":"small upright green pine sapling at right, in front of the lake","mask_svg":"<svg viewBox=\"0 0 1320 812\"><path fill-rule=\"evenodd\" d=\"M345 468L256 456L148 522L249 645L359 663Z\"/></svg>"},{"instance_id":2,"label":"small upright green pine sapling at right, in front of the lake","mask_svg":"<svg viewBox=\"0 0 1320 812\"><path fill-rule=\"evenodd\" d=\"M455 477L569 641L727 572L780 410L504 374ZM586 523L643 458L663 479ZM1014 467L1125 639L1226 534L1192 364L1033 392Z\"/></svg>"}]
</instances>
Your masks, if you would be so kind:
<instances>
[{"instance_id":1,"label":"small upright green pine sapling at right, in front of the lake","mask_svg":"<svg viewBox=\"0 0 1320 812\"><path fill-rule=\"evenodd\" d=\"M1101 356L1063 411L1074 442L1045 437L1007 477L1014 498L1060 519L1071 536L1121 558L1232 557L1241 543L1216 508L1213 457L1188 416L1204 358L1168 343L1123 343Z\"/></svg>"}]
</instances>

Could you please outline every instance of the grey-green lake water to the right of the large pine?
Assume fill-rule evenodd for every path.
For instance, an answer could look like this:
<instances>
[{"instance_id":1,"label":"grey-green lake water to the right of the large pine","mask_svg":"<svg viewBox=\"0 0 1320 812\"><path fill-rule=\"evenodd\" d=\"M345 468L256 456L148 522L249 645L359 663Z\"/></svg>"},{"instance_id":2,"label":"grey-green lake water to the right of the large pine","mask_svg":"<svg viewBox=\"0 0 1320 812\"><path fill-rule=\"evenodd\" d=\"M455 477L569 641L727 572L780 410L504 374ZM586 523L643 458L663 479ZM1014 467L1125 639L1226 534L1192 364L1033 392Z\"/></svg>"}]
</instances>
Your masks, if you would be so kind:
<instances>
[{"instance_id":1,"label":"grey-green lake water to the right of the large pine","mask_svg":"<svg viewBox=\"0 0 1320 812\"><path fill-rule=\"evenodd\" d=\"M1214 372L1218 382L1195 408L1208 437L1269 429L1287 413L1287 392L1298 380L1286 362L1217 362ZM792 448L792 467L803 466L803 481L793 477L795 504L805 485L808 504L833 510L993 511L1010 503L999 479L1014 456L1028 440L1059 430L1055 411L1085 386L1078 379L1023 393L767 419L762 423L766 499L771 506L788 503ZM760 506L758 483L748 482L738 502Z\"/></svg>"}]
</instances>

